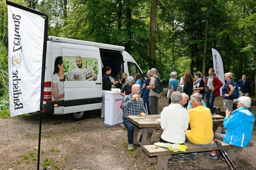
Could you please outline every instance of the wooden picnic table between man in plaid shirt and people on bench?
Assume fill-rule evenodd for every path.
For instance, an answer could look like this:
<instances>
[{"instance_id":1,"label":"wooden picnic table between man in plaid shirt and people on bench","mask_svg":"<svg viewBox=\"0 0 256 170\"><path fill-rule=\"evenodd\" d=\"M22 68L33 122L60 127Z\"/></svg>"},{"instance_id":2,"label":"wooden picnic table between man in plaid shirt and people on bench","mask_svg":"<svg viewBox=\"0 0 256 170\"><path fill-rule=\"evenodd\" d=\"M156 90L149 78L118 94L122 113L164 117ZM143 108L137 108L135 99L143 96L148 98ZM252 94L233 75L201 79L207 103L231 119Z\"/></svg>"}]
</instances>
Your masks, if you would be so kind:
<instances>
[{"instance_id":1,"label":"wooden picnic table between man in plaid shirt and people on bench","mask_svg":"<svg viewBox=\"0 0 256 170\"><path fill-rule=\"evenodd\" d=\"M156 119L160 118L161 115L145 115L145 116L127 116L127 119L131 121L134 125L138 126L142 129L142 141L141 141L141 148L144 145L151 145L151 137L153 134L153 128L160 128L161 125ZM212 120L213 123L213 132L215 132L220 123L223 123L224 119L217 119Z\"/></svg>"}]
</instances>

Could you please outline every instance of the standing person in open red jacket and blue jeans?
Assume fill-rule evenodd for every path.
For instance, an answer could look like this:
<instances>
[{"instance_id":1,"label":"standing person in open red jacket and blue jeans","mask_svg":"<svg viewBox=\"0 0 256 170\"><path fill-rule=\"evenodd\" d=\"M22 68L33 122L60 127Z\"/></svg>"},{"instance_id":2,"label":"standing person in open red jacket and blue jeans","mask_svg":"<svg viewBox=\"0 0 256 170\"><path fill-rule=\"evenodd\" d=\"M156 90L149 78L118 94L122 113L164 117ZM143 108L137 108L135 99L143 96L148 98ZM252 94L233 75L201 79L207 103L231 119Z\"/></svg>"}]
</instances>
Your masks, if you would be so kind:
<instances>
[{"instance_id":1,"label":"standing person in open red jacket and blue jeans","mask_svg":"<svg viewBox=\"0 0 256 170\"><path fill-rule=\"evenodd\" d=\"M214 100L216 96L220 96L220 88L223 83L214 76L214 69L209 68L208 71L209 76L206 77L205 84L209 86L209 93L205 95L206 97L206 106L213 111Z\"/></svg>"}]
</instances>

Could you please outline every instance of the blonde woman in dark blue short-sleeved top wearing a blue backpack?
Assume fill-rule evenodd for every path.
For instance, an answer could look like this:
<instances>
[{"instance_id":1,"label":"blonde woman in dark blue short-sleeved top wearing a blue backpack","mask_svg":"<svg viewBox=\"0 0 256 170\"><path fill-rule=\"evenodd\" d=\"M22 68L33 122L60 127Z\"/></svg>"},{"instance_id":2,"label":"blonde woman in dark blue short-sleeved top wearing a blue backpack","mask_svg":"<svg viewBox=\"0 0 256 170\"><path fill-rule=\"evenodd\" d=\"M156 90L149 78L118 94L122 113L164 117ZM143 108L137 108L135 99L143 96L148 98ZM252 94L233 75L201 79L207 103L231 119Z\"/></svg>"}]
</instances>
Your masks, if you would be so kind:
<instances>
[{"instance_id":1,"label":"blonde woman in dark blue short-sleeved top wearing a blue backpack","mask_svg":"<svg viewBox=\"0 0 256 170\"><path fill-rule=\"evenodd\" d=\"M226 84L222 87L222 97L223 97L223 107L224 110L226 111L227 109L229 111L233 111L233 100L231 94L234 92L234 87L233 87L233 73L232 72L227 72L224 74L224 79L226 80Z\"/></svg>"}]
</instances>

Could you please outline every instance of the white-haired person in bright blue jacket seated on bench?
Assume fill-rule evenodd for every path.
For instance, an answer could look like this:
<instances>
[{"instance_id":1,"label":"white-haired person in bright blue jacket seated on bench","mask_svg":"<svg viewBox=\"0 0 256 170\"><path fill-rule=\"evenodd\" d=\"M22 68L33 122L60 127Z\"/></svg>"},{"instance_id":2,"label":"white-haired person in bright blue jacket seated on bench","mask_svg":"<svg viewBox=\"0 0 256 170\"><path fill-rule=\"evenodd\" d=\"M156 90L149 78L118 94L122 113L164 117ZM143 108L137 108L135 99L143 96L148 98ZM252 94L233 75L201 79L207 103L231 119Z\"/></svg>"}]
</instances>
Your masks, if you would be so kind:
<instances>
[{"instance_id":1,"label":"white-haired person in bright blue jacket seated on bench","mask_svg":"<svg viewBox=\"0 0 256 170\"><path fill-rule=\"evenodd\" d=\"M224 127L227 129L226 134L214 133L214 138L221 139L225 143L237 147L246 147L252 139L252 129L254 123L254 114L248 110L251 106L252 100L250 97L242 96L238 98L237 109L232 113L226 110L226 117L224 119ZM216 152L205 153L206 158L216 159Z\"/></svg>"}]
</instances>

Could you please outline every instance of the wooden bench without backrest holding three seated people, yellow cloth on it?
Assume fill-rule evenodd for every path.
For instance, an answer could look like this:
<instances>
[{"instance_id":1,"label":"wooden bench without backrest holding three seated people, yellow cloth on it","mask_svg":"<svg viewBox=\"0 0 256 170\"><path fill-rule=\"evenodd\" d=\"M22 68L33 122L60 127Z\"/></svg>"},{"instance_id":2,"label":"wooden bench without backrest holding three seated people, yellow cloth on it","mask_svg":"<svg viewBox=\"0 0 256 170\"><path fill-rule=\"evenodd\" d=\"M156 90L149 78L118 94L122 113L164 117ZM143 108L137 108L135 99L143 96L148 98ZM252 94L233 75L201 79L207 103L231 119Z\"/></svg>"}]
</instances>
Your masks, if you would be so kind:
<instances>
[{"instance_id":1,"label":"wooden bench without backrest holding three seated people, yellow cloth on it","mask_svg":"<svg viewBox=\"0 0 256 170\"><path fill-rule=\"evenodd\" d=\"M234 164L238 164L239 160L237 158L238 158L238 155L240 154L240 152L242 151L242 148L236 147L234 145L229 145L222 141L220 141L220 142L222 144L223 149L227 150L227 154L228 154L228 157L230 158L230 160ZM158 147L158 146L154 146L154 145L144 145L142 147L142 150L144 153L146 153L150 157L157 156L158 161L157 161L156 166L154 166L154 168L156 170L167 170L168 159L170 159L171 154L178 154L178 153L185 154L185 153L191 153L191 152L207 152L207 151L211 151L211 150L219 150L217 145L212 145L208 148L198 147L196 145L193 145L190 142L185 142L184 145L186 145L188 147L188 149L186 149L186 152L180 152L180 151L173 152L167 148ZM249 143L248 146L253 146L253 144Z\"/></svg>"}]
</instances>

